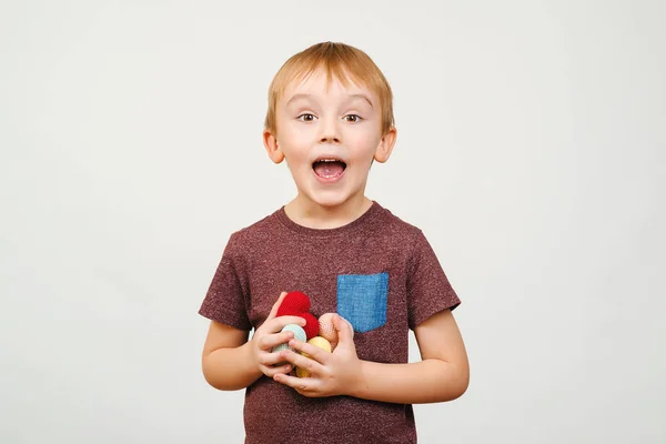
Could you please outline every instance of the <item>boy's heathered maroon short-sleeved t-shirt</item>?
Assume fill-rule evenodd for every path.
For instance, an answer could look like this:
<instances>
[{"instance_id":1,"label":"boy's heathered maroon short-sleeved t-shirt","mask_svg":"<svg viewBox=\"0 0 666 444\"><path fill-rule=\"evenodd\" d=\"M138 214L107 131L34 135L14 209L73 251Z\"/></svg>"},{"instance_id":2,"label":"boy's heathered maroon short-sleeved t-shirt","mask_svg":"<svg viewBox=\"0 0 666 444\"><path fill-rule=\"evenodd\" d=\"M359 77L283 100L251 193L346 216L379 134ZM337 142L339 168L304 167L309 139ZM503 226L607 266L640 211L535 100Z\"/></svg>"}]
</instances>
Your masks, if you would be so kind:
<instances>
[{"instance_id":1,"label":"boy's heathered maroon short-sleeved t-shirt","mask_svg":"<svg viewBox=\"0 0 666 444\"><path fill-rule=\"evenodd\" d=\"M375 276L361 280L370 302L349 289L340 293L361 360L408 362L408 330L461 302L423 232L373 201L363 215L336 229L299 225L283 206L234 232L200 314L249 331L265 321L282 291L301 291L319 317L339 311L340 276ZM342 281L353 284L357 278ZM367 287L369 282L379 284ZM385 320L377 315L382 312ZM266 376L245 391L244 425L246 444L416 442L410 404L309 398Z\"/></svg>"}]
</instances>

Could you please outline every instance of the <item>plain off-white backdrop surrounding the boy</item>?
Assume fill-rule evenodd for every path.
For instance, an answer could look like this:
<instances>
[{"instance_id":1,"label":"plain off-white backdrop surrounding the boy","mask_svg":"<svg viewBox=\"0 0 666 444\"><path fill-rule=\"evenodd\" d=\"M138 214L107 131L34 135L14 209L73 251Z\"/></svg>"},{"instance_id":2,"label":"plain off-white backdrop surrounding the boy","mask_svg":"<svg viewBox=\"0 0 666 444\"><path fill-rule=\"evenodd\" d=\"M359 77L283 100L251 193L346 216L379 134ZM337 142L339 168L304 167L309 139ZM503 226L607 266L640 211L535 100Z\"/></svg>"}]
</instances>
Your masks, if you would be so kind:
<instances>
[{"instance_id":1,"label":"plain off-white backdrop surrounding the boy","mask_svg":"<svg viewBox=\"0 0 666 444\"><path fill-rule=\"evenodd\" d=\"M295 193L261 142L266 91L326 40L391 82L398 141L367 195L425 232L463 300L471 385L415 407L420 442L666 442L664 17L2 1L0 442L242 442L196 312L231 232Z\"/></svg>"}]
</instances>

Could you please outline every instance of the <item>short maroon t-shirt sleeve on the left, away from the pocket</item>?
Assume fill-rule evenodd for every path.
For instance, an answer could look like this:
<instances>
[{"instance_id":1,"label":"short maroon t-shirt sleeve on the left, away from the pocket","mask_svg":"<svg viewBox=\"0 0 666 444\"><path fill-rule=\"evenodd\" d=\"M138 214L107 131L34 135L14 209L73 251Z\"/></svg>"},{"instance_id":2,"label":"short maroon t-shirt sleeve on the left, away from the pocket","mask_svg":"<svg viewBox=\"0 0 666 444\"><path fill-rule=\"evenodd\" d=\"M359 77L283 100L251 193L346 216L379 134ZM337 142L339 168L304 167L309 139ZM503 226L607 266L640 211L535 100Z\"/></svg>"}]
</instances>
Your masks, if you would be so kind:
<instances>
[{"instance_id":1,"label":"short maroon t-shirt sleeve on the left, away from the pocket","mask_svg":"<svg viewBox=\"0 0 666 444\"><path fill-rule=\"evenodd\" d=\"M205 294L199 314L239 330L252 330L245 310L240 249L235 233L224 248L222 259Z\"/></svg>"}]
</instances>

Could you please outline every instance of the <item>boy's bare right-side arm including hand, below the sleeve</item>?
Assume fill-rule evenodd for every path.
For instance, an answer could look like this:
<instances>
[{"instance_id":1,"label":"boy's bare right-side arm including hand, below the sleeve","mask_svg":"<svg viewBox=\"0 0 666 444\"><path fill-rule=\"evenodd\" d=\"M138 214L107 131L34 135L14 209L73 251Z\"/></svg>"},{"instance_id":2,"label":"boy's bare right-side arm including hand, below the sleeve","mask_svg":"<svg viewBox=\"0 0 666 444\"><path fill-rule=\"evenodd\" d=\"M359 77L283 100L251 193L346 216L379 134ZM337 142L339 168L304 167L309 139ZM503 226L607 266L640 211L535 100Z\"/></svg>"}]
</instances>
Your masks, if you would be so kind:
<instances>
[{"instance_id":1,"label":"boy's bare right-side arm including hand, below the sleeve","mask_svg":"<svg viewBox=\"0 0 666 444\"><path fill-rule=\"evenodd\" d=\"M467 355L450 310L431 316L415 329L423 361L410 364L359 360L351 325L339 316L335 325L340 343L334 353L295 340L290 345L312 359L290 351L281 352L283 359L306 369L312 377L278 374L274 379L305 396L350 395L404 404L451 401L467 389Z\"/></svg>"}]
</instances>

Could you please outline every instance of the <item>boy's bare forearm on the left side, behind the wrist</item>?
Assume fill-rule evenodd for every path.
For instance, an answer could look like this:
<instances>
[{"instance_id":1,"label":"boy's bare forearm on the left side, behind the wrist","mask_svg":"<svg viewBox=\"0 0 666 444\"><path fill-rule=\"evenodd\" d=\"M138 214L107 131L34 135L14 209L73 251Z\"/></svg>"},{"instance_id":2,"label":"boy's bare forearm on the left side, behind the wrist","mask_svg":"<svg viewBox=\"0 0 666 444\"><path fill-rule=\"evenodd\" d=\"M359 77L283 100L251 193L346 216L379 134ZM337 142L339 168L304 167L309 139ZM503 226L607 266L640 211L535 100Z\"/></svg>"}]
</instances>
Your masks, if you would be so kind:
<instances>
[{"instance_id":1,"label":"boy's bare forearm on the left side, behind the wrist","mask_svg":"<svg viewBox=\"0 0 666 444\"><path fill-rule=\"evenodd\" d=\"M202 370L209 384L228 391L245 389L262 375L252 357L250 342L212 351L203 356Z\"/></svg>"}]
</instances>

